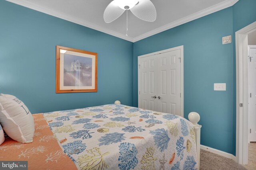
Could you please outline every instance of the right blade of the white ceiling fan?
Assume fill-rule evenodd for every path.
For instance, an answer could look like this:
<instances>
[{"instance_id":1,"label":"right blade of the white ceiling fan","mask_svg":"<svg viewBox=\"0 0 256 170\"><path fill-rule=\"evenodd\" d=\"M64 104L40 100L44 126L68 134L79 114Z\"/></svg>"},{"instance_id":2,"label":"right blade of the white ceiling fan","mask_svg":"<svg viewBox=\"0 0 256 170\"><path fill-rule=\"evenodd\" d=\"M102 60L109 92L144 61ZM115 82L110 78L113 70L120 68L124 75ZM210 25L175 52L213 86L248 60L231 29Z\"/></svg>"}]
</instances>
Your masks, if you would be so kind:
<instances>
[{"instance_id":1,"label":"right blade of the white ceiling fan","mask_svg":"<svg viewBox=\"0 0 256 170\"><path fill-rule=\"evenodd\" d=\"M156 20L156 8L150 0L139 0L132 9L132 14L144 21L153 22Z\"/></svg>"}]
</instances>

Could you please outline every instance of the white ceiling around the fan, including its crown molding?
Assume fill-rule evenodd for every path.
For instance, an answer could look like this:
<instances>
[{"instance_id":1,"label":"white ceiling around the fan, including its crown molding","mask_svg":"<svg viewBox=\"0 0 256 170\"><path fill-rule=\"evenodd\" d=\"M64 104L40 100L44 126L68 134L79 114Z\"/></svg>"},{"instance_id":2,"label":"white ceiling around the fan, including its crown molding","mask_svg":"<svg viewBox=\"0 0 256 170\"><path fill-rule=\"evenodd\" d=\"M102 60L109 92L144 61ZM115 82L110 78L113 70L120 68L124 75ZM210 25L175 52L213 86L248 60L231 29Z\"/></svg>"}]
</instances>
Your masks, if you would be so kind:
<instances>
[{"instance_id":1,"label":"white ceiling around the fan, including its crown molding","mask_svg":"<svg viewBox=\"0 0 256 170\"><path fill-rule=\"evenodd\" d=\"M151 0L156 7L156 21L140 20L129 11L128 37L126 37L125 13L111 23L104 22L104 10L112 0L8 1L132 42L228 8L238 2L238 0Z\"/></svg>"}]
</instances>

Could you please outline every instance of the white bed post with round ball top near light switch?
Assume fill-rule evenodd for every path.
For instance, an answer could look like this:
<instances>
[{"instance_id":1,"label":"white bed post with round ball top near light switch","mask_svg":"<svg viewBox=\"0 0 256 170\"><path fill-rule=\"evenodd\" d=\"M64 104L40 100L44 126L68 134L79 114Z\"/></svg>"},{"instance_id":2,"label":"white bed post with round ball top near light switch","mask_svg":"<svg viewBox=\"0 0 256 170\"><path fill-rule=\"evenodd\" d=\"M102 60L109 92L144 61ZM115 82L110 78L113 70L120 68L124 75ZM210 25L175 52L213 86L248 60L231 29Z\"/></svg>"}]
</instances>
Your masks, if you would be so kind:
<instances>
[{"instance_id":1,"label":"white bed post with round ball top near light switch","mask_svg":"<svg viewBox=\"0 0 256 170\"><path fill-rule=\"evenodd\" d=\"M200 132L202 125L198 125L200 121L200 115L196 112L190 112L188 114L189 121L193 124L196 135L196 155L198 161L198 169L200 169Z\"/></svg>"}]
</instances>

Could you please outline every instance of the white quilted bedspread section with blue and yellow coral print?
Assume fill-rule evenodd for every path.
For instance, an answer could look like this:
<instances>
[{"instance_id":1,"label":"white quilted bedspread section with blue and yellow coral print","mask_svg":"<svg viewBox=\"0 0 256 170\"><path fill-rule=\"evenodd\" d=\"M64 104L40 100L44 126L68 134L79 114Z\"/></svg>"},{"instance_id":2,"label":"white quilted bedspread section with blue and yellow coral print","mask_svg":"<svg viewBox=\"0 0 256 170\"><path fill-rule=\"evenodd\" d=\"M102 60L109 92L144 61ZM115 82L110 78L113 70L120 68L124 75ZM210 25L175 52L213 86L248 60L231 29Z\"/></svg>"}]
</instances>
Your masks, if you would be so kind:
<instances>
[{"instance_id":1,"label":"white quilted bedspread section with blue and yellow coral print","mask_svg":"<svg viewBox=\"0 0 256 170\"><path fill-rule=\"evenodd\" d=\"M192 123L176 115L110 104L44 117L81 170L198 168Z\"/></svg>"}]
</instances>

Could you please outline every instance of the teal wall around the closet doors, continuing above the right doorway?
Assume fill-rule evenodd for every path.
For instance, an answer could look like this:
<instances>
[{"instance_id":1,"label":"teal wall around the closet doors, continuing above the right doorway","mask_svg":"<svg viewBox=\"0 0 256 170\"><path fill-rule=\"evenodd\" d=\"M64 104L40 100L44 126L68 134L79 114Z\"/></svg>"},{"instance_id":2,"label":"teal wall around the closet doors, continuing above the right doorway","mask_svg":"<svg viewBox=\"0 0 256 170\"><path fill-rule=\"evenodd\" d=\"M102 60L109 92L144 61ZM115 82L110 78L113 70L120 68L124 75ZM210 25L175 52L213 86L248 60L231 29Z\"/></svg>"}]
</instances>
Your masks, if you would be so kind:
<instances>
[{"instance_id":1,"label":"teal wall around the closet doors, continuing above the right doorway","mask_svg":"<svg viewBox=\"0 0 256 170\"><path fill-rule=\"evenodd\" d=\"M236 153L236 61L234 33L256 21L256 1L234 6L134 43L134 106L138 106L138 56L184 45L184 117L196 111L201 144ZM233 35L230 44L222 37ZM226 83L224 92L214 83Z\"/></svg>"}]
</instances>

